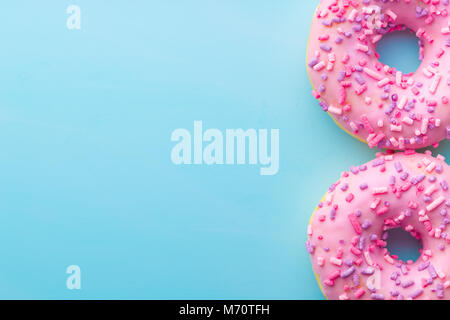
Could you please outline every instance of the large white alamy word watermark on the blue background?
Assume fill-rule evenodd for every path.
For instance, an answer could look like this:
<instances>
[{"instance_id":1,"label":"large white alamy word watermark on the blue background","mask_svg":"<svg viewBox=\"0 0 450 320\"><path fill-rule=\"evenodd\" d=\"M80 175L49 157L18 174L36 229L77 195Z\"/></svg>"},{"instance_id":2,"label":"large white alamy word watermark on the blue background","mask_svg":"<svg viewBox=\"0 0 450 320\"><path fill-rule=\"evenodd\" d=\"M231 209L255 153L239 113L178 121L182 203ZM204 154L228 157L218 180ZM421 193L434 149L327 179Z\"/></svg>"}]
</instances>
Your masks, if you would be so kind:
<instances>
[{"instance_id":1,"label":"large white alamy word watermark on the blue background","mask_svg":"<svg viewBox=\"0 0 450 320\"><path fill-rule=\"evenodd\" d=\"M171 140L172 162L176 165L260 165L263 176L276 175L279 170L279 129L218 129L203 131L203 122L194 121L194 132L176 129ZM269 151L270 149L270 151ZM270 154L269 154L270 153Z\"/></svg>"}]
</instances>

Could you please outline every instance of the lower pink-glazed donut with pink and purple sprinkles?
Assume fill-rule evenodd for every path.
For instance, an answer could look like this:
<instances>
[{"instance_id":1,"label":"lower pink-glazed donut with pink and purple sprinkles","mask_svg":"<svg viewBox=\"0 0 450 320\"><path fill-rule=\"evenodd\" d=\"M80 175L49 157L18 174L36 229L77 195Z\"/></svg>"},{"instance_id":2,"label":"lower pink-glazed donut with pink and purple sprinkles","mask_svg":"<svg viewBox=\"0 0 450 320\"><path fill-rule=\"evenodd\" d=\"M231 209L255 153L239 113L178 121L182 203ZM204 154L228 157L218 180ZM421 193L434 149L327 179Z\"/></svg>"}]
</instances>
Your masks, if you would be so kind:
<instances>
[{"instance_id":1,"label":"lower pink-glazed donut with pink and purple sprinkles","mask_svg":"<svg viewBox=\"0 0 450 320\"><path fill-rule=\"evenodd\" d=\"M306 242L328 299L450 299L450 169L444 160L430 152L378 154L331 186ZM386 231L393 228L421 240L417 261L388 252Z\"/></svg>"}]
</instances>

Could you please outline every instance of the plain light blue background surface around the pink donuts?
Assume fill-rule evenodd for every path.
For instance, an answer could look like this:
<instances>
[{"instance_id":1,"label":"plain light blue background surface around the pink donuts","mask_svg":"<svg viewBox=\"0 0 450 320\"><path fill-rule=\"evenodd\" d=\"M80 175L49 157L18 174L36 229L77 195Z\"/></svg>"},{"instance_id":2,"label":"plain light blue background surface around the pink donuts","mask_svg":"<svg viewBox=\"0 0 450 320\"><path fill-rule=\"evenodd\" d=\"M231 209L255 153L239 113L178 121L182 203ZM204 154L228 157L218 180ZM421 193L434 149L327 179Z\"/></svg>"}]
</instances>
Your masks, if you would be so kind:
<instances>
[{"instance_id":1,"label":"plain light blue background surface around the pink donuts","mask_svg":"<svg viewBox=\"0 0 450 320\"><path fill-rule=\"evenodd\" d=\"M311 96L317 3L2 3L0 298L322 299L310 215L375 150ZM279 173L175 166L170 135L194 120L280 129Z\"/></svg>"}]
</instances>

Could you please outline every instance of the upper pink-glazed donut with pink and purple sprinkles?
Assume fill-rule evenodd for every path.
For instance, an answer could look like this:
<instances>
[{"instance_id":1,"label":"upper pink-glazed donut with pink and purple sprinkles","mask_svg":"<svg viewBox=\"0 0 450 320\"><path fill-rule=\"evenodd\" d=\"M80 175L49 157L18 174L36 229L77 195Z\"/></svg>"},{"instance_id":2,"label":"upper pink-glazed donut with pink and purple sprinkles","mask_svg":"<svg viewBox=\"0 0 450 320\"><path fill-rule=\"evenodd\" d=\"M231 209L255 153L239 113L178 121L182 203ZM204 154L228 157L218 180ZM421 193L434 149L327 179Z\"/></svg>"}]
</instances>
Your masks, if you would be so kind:
<instances>
[{"instance_id":1,"label":"upper pink-glazed donut with pink and purple sprinkles","mask_svg":"<svg viewBox=\"0 0 450 320\"><path fill-rule=\"evenodd\" d=\"M408 150L450 139L449 0L321 0L307 52L313 95L371 148ZM422 63L402 74L381 63L384 34L416 32Z\"/></svg>"}]
</instances>

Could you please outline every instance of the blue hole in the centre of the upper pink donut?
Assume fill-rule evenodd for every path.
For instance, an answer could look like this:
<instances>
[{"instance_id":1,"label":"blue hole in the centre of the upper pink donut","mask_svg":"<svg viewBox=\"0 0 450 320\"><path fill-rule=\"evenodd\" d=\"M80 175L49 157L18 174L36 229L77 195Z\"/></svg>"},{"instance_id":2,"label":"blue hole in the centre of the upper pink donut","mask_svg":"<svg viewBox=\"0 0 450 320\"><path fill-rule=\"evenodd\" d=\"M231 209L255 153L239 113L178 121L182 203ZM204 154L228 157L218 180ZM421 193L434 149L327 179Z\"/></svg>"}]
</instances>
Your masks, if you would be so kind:
<instances>
[{"instance_id":1,"label":"blue hole in the centre of the upper pink donut","mask_svg":"<svg viewBox=\"0 0 450 320\"><path fill-rule=\"evenodd\" d=\"M419 38L410 29L385 34L376 50L381 63L404 74L416 72L421 64Z\"/></svg>"}]
</instances>

